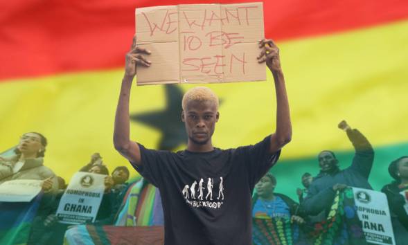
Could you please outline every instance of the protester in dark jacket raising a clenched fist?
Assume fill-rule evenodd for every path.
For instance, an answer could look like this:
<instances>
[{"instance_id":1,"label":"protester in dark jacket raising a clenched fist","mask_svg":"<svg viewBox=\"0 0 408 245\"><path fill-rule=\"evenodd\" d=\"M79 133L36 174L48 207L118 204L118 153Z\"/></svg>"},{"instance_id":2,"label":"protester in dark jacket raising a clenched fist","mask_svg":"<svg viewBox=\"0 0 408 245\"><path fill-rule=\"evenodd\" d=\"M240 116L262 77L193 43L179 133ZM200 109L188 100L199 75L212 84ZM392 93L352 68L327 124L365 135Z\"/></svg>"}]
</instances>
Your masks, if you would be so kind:
<instances>
[{"instance_id":1,"label":"protester in dark jacket raising a clenched fist","mask_svg":"<svg viewBox=\"0 0 408 245\"><path fill-rule=\"evenodd\" d=\"M301 203L308 215L317 215L323 210L330 210L330 206L337 190L347 186L372 190L369 184L369 175L373 166L374 151L369 140L357 129L342 121L339 129L346 131L348 138L355 148L353 163L350 167L340 170L335 154L329 150L320 152L320 173L314 177L308 195Z\"/></svg>"}]
</instances>

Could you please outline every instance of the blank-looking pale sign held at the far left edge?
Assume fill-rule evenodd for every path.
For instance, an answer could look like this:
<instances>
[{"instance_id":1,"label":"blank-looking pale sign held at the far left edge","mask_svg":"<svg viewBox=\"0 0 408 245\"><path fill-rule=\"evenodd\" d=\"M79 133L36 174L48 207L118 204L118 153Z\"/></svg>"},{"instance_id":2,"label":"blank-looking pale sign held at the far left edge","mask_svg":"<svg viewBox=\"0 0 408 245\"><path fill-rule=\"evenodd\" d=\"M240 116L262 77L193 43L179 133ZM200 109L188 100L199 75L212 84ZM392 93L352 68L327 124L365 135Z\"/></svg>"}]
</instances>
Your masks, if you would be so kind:
<instances>
[{"instance_id":1,"label":"blank-looking pale sign held at the far left edge","mask_svg":"<svg viewBox=\"0 0 408 245\"><path fill-rule=\"evenodd\" d=\"M41 191L42 181L33 179L16 179L0 185L0 201L31 201Z\"/></svg>"}]
</instances>

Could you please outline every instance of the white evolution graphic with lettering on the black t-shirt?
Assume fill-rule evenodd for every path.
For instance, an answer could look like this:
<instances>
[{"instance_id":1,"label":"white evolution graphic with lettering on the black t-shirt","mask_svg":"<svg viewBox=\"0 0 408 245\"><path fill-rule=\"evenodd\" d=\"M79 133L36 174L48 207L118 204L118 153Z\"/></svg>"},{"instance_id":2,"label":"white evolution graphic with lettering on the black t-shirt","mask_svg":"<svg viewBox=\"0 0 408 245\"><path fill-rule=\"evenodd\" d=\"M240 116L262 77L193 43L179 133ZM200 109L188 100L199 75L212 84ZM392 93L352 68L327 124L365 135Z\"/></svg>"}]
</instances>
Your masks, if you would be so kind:
<instances>
[{"instance_id":1,"label":"white evolution graphic with lettering on the black t-shirt","mask_svg":"<svg viewBox=\"0 0 408 245\"><path fill-rule=\"evenodd\" d=\"M198 185L198 186L197 186ZM213 190L215 194L213 195ZM220 184L217 189L214 188L214 179L200 179L191 183L191 185L184 185L183 193L184 198L190 206L195 208L207 207L207 208L220 208L224 200L224 185L223 179L220 177ZM205 194L205 196L204 196Z\"/></svg>"}]
</instances>

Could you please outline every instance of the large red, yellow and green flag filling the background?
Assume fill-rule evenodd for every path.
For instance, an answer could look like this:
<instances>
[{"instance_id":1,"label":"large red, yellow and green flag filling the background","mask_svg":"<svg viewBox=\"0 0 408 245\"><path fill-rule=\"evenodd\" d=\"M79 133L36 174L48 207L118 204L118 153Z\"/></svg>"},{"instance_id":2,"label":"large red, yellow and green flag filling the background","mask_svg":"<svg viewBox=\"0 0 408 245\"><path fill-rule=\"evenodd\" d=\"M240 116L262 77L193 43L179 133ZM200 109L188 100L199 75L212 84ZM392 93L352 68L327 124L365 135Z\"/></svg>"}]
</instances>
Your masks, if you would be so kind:
<instances>
[{"instance_id":1,"label":"large red, yellow and green flag filling the background","mask_svg":"<svg viewBox=\"0 0 408 245\"><path fill-rule=\"evenodd\" d=\"M239 3L244 1L217 1ZM69 181L100 152L112 171L130 164L112 144L114 111L134 8L213 1L39 1L2 4L0 12L0 152L26 131L49 141L45 165ZM391 181L389 162L408 154L408 2L268 0L265 36L276 40L287 82L293 138L274 167L277 192L295 196L317 153L332 149L342 167L353 147L337 129L345 119L375 147L370 181ZM256 143L275 125L267 82L209 85L222 100L217 147ZM179 120L186 86L132 89L131 138L147 147L182 149ZM136 172L133 172L136 174Z\"/></svg>"}]
</instances>

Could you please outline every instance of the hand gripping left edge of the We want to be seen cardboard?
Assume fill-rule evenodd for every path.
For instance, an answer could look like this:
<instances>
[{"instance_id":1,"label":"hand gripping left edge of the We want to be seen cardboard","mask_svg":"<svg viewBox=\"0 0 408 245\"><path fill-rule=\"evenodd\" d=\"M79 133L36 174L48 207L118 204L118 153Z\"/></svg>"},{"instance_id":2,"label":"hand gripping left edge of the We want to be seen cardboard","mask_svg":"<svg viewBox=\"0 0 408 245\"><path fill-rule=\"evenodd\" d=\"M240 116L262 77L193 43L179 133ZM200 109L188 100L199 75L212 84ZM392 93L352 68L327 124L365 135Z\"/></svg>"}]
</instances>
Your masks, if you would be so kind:
<instances>
[{"instance_id":1,"label":"hand gripping left edge of the We want to be seen cardboard","mask_svg":"<svg viewBox=\"0 0 408 245\"><path fill-rule=\"evenodd\" d=\"M125 64L125 75L129 77L134 77L136 75L136 66L142 65L149 67L152 62L147 60L143 54L150 55L150 51L145 48L139 48L136 46L136 35L133 37L132 48L126 54L126 64Z\"/></svg>"}]
</instances>

